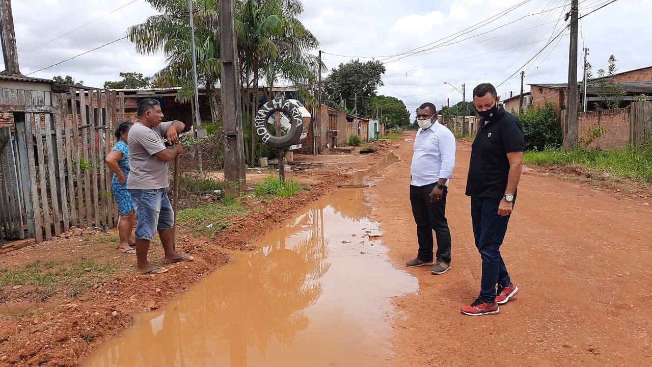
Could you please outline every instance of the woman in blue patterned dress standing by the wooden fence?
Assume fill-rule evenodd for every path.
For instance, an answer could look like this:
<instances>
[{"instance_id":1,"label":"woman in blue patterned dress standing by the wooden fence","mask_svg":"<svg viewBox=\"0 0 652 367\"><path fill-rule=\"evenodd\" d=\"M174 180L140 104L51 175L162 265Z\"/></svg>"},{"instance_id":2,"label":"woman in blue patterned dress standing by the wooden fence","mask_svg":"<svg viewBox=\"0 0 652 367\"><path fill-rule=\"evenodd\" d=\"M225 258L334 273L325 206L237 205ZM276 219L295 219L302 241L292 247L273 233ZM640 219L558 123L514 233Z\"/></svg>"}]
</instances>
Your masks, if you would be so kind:
<instances>
[{"instance_id":1,"label":"woman in blue patterned dress standing by the wooden fence","mask_svg":"<svg viewBox=\"0 0 652 367\"><path fill-rule=\"evenodd\" d=\"M126 254L136 253L136 241L131 238L134 231L134 215L136 207L131 194L126 188L126 179L129 176L129 146L126 144L129 129L133 123L123 122L115 129L115 138L118 141L106 155L106 165L111 169L113 180L111 180L111 189L113 198L118 203L120 209L120 219L118 220L118 232L120 234L120 244L118 251Z\"/></svg>"}]
</instances>

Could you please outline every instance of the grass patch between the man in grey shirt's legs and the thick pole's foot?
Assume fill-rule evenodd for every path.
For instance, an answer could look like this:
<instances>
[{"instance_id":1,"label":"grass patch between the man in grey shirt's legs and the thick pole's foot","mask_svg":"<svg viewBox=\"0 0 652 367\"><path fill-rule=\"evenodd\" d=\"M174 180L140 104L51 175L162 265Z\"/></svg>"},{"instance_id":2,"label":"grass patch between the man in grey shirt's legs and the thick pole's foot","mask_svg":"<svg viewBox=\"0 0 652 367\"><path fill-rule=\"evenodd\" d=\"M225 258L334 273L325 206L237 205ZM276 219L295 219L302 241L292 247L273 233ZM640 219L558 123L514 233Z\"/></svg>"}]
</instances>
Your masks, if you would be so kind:
<instances>
[{"instance_id":1,"label":"grass patch between the man in grey shirt's legs and the thick pole's foot","mask_svg":"<svg viewBox=\"0 0 652 367\"><path fill-rule=\"evenodd\" d=\"M233 225L230 217L248 212L235 197L227 195L222 203L180 210L177 219L188 225L192 231L214 238L217 232Z\"/></svg>"}]
</instances>

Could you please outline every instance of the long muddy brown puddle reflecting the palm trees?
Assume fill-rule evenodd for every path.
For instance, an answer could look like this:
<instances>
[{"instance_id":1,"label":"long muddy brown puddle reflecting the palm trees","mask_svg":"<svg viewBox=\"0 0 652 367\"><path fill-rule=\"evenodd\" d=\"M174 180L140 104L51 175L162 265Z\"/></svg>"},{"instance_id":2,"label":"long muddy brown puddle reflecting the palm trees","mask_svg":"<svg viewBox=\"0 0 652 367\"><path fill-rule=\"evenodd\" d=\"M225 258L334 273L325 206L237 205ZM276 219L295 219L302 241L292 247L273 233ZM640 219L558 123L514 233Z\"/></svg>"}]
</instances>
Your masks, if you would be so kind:
<instances>
[{"instance_id":1,"label":"long muddy brown puddle reflecting the palm trees","mask_svg":"<svg viewBox=\"0 0 652 367\"><path fill-rule=\"evenodd\" d=\"M379 172L394 155L356 179ZM163 309L100 345L83 366L382 366L391 297L417 280L370 240L363 189L308 206Z\"/></svg>"}]
</instances>

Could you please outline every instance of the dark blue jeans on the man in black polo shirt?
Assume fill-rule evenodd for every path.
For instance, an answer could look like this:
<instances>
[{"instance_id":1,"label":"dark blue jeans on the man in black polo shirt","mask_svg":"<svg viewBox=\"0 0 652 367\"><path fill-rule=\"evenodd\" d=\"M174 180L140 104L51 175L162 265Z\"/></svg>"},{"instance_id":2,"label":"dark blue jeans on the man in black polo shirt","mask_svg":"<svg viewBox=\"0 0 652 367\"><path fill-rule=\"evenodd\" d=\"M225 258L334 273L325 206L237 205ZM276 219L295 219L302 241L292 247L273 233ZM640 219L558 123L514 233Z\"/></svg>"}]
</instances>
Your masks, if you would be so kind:
<instances>
[{"instance_id":1,"label":"dark blue jeans on the man in black polo shirt","mask_svg":"<svg viewBox=\"0 0 652 367\"><path fill-rule=\"evenodd\" d=\"M500 255L500 246L507 233L509 215L501 217L498 206L502 199L471 197L471 220L475 247L482 257L482 281L480 283L480 300L494 303L496 284L512 283L507 266ZM515 201L514 201L515 202Z\"/></svg>"}]
</instances>

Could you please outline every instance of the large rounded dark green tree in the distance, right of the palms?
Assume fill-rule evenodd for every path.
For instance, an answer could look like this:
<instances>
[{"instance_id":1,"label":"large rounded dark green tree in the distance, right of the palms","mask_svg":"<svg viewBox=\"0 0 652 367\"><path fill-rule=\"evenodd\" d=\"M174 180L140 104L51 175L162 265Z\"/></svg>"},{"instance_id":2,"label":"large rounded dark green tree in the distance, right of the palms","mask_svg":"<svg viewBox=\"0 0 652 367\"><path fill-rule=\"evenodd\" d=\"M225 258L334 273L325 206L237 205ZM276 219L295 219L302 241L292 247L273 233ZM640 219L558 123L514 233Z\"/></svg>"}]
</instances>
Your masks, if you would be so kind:
<instances>
[{"instance_id":1,"label":"large rounded dark green tree in the distance, right of the palms","mask_svg":"<svg viewBox=\"0 0 652 367\"><path fill-rule=\"evenodd\" d=\"M371 101L376 97L379 86L383 86L382 76L385 66L380 61L352 60L341 63L326 78L326 95L334 107L355 108L358 115L370 116Z\"/></svg>"}]
</instances>

